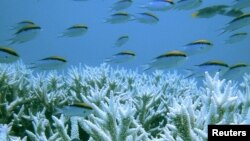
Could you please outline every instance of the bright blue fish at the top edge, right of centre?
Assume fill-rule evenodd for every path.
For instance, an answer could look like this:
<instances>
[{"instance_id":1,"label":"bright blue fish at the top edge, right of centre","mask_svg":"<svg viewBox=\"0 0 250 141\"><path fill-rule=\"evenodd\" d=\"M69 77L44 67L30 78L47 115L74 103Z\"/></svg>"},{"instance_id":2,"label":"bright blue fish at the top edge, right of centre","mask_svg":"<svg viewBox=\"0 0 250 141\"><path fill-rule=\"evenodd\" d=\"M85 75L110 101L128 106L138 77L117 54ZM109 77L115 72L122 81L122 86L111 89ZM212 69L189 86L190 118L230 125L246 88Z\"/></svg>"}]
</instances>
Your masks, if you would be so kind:
<instances>
[{"instance_id":1,"label":"bright blue fish at the top edge, right of centre","mask_svg":"<svg viewBox=\"0 0 250 141\"><path fill-rule=\"evenodd\" d=\"M148 2L141 6L151 11L166 11L173 8L174 2L172 0L155 0Z\"/></svg>"}]
</instances>

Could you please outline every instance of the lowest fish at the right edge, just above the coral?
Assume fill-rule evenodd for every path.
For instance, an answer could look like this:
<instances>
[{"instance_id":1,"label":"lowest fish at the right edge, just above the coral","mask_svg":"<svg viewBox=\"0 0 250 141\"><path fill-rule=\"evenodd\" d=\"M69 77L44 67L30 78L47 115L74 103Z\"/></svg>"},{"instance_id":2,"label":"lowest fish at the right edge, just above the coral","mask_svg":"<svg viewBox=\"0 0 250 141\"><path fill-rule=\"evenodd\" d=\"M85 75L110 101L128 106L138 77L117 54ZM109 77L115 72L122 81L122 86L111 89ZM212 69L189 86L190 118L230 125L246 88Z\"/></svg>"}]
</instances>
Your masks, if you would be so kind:
<instances>
[{"instance_id":1,"label":"lowest fish at the right edge, just above the coral","mask_svg":"<svg viewBox=\"0 0 250 141\"><path fill-rule=\"evenodd\" d=\"M233 65L223 74L223 78L227 80L238 79L242 77L244 73L249 72L249 68L249 65L244 63Z\"/></svg>"}]
</instances>

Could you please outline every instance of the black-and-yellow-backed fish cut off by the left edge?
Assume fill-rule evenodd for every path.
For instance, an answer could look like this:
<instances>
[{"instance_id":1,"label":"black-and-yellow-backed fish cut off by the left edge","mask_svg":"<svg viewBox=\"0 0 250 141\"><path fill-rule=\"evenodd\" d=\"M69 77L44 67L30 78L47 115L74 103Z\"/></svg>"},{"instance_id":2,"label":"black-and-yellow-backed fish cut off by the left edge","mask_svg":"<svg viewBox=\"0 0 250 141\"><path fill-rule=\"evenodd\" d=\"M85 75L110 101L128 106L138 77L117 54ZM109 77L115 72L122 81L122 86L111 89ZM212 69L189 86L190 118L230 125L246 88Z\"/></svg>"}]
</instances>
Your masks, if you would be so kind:
<instances>
[{"instance_id":1,"label":"black-and-yellow-backed fish cut off by the left edge","mask_svg":"<svg viewBox=\"0 0 250 141\"><path fill-rule=\"evenodd\" d=\"M0 46L0 63L12 63L17 61L20 56L15 50L9 47Z\"/></svg>"}]
</instances>

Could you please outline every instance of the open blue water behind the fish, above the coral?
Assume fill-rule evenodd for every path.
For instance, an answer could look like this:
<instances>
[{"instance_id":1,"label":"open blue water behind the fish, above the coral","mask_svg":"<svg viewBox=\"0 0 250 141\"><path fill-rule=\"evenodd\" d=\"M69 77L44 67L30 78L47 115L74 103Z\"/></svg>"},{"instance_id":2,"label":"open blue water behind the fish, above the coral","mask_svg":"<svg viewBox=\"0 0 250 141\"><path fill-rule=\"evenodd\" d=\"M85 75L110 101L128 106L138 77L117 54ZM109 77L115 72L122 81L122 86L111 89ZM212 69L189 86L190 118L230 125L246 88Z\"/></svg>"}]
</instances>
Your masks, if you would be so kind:
<instances>
[{"instance_id":1,"label":"open blue water behind the fish, above the coral","mask_svg":"<svg viewBox=\"0 0 250 141\"><path fill-rule=\"evenodd\" d=\"M1 0L0 1L0 45L7 45L12 37L10 26L22 20L32 20L43 31L32 41L11 45L29 64L38 59L59 55L68 60L68 66L87 64L97 66L105 58L122 50L132 50L137 57L128 63L119 64L126 68L141 68L142 65L167 51L178 50L191 41L207 39L214 43L214 48L206 54L189 57L179 68L187 68L208 60L222 60L233 65L250 63L249 37L237 44L226 45L224 41L229 33L218 36L220 29L231 21L232 17L215 16L208 19L193 18L196 10L215 4L230 5L233 0L204 0L202 5L192 10L168 10L153 12L160 21L147 25L130 21L122 24L104 23L112 12L109 8L114 0ZM124 10L131 14L145 12L141 4L148 1L135 0L131 7ZM244 9L244 12L250 12ZM88 32L76 38L58 38L66 28L73 24L88 25ZM238 31L249 32L245 27ZM114 47L115 40L123 34L130 40L121 48Z\"/></svg>"}]
</instances>

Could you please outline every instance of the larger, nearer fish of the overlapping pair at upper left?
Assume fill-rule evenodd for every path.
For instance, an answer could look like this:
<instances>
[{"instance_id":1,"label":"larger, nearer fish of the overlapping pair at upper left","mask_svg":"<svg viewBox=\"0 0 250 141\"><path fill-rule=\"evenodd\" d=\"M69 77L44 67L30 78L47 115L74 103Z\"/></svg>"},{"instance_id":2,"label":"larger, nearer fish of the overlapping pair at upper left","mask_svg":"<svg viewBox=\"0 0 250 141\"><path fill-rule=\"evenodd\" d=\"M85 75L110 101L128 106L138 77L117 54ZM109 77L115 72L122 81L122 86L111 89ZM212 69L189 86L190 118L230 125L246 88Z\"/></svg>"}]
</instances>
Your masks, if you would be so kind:
<instances>
[{"instance_id":1,"label":"larger, nearer fish of the overlapping pair at upper left","mask_svg":"<svg viewBox=\"0 0 250 141\"><path fill-rule=\"evenodd\" d=\"M38 35L40 31L41 31L41 27L38 25L33 25L33 24L26 25L16 31L16 33L14 34L14 37L8 40L10 41L9 44L10 45L15 44L15 43L20 44L20 43L31 41Z\"/></svg>"}]
</instances>

